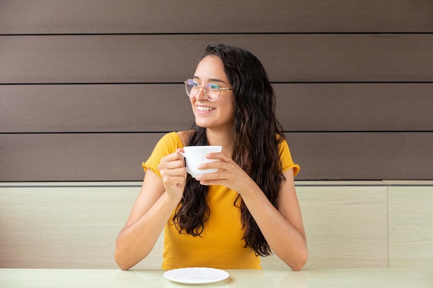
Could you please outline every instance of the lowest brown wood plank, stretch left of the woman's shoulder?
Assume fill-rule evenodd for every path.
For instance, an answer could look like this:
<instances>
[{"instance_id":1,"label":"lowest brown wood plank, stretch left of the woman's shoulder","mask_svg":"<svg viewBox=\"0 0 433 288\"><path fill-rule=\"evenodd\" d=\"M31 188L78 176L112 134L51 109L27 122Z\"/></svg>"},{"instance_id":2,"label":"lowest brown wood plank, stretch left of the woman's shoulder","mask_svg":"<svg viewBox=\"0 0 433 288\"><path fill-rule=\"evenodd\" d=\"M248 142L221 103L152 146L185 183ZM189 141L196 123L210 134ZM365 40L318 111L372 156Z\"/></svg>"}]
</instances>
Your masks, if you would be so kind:
<instances>
[{"instance_id":1,"label":"lowest brown wood plank, stretch left of the woman's shoulder","mask_svg":"<svg viewBox=\"0 0 433 288\"><path fill-rule=\"evenodd\" d=\"M142 180L159 133L0 134L0 181Z\"/></svg>"}]
</instances>

